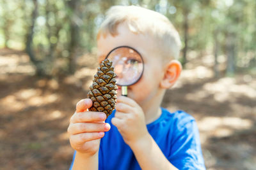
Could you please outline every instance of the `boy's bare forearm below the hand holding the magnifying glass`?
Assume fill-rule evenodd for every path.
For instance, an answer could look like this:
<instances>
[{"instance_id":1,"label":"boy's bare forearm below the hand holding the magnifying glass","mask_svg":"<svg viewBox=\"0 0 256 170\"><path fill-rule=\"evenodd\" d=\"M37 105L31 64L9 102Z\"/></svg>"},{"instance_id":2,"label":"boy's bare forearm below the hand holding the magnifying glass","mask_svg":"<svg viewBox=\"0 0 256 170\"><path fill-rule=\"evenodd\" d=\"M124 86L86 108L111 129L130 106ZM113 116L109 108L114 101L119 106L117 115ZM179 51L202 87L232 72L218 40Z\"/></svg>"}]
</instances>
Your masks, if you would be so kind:
<instances>
[{"instance_id":1,"label":"boy's bare forearm below the hand holding the magnifying glass","mask_svg":"<svg viewBox=\"0 0 256 170\"><path fill-rule=\"evenodd\" d=\"M130 146L141 169L177 169L166 159L150 134Z\"/></svg>"}]
</instances>

